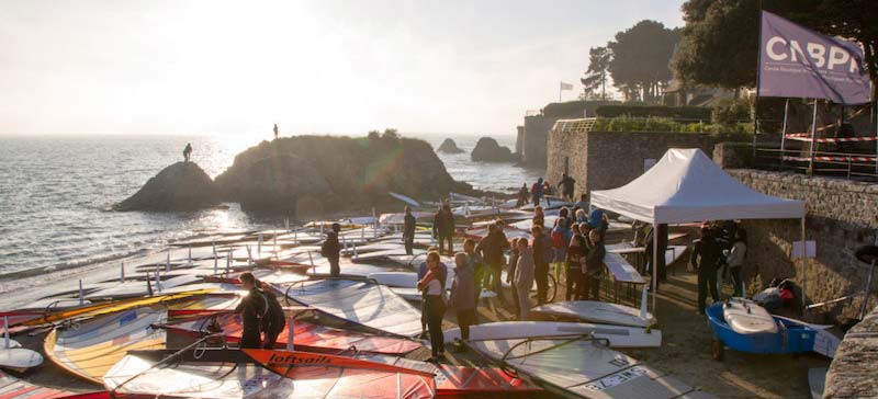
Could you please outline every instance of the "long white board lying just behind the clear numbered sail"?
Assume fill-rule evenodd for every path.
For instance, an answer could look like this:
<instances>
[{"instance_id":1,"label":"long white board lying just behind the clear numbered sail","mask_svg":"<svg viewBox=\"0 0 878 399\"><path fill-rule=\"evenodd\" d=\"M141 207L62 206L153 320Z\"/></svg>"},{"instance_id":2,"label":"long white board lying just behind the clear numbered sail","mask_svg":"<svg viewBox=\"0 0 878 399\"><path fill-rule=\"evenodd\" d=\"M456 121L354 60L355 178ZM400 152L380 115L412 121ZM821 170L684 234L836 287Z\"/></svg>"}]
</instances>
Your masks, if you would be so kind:
<instances>
[{"instance_id":1,"label":"long white board lying just behind the clear numbered sail","mask_svg":"<svg viewBox=\"0 0 878 399\"><path fill-rule=\"evenodd\" d=\"M471 340L511 340L540 337L592 334L609 341L612 347L658 347L662 331L640 327L622 327L563 321L499 321L470 327ZM446 342L459 340L460 329L444 331Z\"/></svg>"}]
</instances>

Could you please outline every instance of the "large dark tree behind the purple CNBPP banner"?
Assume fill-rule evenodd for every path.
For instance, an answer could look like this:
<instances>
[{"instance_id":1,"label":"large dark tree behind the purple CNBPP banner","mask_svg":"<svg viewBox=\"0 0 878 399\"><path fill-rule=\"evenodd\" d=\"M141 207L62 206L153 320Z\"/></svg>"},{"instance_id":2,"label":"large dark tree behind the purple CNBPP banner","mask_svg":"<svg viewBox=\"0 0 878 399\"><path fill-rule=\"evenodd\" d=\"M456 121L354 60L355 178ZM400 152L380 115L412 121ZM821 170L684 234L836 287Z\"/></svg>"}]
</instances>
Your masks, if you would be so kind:
<instances>
[{"instance_id":1,"label":"large dark tree behind the purple CNBPP banner","mask_svg":"<svg viewBox=\"0 0 878 399\"><path fill-rule=\"evenodd\" d=\"M878 90L878 7L875 0L763 0L763 10L828 35L853 38ZM683 4L683 38L672 67L684 84L756 86L759 2L689 0Z\"/></svg>"}]
</instances>

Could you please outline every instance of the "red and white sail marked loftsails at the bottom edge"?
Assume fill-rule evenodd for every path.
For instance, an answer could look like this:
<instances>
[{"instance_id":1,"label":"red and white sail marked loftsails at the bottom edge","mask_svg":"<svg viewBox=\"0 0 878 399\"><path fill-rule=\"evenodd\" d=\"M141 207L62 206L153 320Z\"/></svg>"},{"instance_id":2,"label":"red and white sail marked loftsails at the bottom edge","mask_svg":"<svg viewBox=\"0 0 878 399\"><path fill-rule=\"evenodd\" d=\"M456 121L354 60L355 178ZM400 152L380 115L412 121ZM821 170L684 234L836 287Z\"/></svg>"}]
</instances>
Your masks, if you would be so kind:
<instances>
[{"instance_id":1,"label":"red and white sail marked loftsails at the bottom edge","mask_svg":"<svg viewBox=\"0 0 878 399\"><path fill-rule=\"evenodd\" d=\"M237 352L237 351L235 351ZM123 357L103 378L114 394L183 398L432 398L429 373L350 357L244 350L251 361Z\"/></svg>"}]
</instances>

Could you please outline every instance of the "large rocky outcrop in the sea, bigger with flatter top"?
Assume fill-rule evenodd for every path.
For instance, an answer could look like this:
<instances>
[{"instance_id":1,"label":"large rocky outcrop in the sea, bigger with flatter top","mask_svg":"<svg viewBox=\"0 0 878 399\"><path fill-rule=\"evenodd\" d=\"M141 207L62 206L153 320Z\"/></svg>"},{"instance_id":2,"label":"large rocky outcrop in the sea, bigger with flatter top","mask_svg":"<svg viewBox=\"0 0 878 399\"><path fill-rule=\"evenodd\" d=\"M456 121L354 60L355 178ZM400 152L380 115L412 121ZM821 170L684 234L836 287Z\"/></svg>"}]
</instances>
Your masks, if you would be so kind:
<instances>
[{"instance_id":1,"label":"large rocky outcrop in the sea, bigger with flatter top","mask_svg":"<svg viewBox=\"0 0 878 399\"><path fill-rule=\"evenodd\" d=\"M246 210L299 217L394 204L389 191L438 198L470 192L424 140L297 136L262 141L216 178L222 196ZM398 203L395 203L398 205Z\"/></svg>"}]
</instances>

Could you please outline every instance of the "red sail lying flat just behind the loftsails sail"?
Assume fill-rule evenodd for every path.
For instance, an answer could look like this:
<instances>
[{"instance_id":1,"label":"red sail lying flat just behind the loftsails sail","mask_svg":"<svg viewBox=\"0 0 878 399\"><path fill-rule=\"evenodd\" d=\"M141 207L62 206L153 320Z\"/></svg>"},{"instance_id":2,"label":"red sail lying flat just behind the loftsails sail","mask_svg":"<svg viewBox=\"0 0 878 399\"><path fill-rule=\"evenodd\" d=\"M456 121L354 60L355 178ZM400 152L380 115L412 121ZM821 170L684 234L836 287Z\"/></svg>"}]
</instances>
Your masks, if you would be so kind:
<instances>
[{"instance_id":1,"label":"red sail lying flat just behind the loftsails sail","mask_svg":"<svg viewBox=\"0 0 878 399\"><path fill-rule=\"evenodd\" d=\"M191 334L221 332L227 341L239 342L244 326L239 317L223 312L171 322L167 328L169 331ZM304 321L295 321L293 328L295 330L293 331L293 344L296 349L305 347L308 351L339 352L353 347L361 352L406 354L423 346L420 343L412 340L336 330ZM288 331L289 326L288 329L284 329L278 337L278 347L286 345Z\"/></svg>"}]
</instances>

